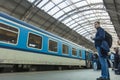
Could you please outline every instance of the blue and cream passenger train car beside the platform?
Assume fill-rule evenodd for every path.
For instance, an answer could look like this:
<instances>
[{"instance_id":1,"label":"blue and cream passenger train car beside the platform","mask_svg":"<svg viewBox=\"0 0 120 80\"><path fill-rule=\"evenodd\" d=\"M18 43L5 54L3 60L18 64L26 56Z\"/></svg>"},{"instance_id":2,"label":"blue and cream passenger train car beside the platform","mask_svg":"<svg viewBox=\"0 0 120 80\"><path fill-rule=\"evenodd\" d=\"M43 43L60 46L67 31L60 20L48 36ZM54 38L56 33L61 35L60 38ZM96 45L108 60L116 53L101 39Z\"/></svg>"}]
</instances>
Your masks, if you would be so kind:
<instances>
[{"instance_id":1,"label":"blue and cream passenger train car beside the platform","mask_svg":"<svg viewBox=\"0 0 120 80\"><path fill-rule=\"evenodd\" d=\"M90 68L91 56L80 45L0 12L0 71Z\"/></svg>"}]
</instances>

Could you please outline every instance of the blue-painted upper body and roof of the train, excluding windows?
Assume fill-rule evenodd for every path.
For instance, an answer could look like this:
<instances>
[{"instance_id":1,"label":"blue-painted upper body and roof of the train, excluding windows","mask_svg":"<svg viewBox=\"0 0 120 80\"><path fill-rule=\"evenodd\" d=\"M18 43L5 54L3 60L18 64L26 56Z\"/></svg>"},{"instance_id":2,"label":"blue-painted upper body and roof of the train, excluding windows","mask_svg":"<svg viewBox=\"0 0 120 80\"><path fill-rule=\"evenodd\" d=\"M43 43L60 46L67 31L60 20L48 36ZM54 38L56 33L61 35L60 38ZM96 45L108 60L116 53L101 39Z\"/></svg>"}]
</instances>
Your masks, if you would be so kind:
<instances>
[{"instance_id":1,"label":"blue-painted upper body and roof of the train, excluding windows","mask_svg":"<svg viewBox=\"0 0 120 80\"><path fill-rule=\"evenodd\" d=\"M20 20L18 20L16 18L13 18L13 17L11 17L9 15L6 15L4 13L0 13L0 16L3 17L3 18L6 18L8 20L11 20L11 21L13 21L15 23L21 24L21 25L13 24L12 22L0 19L0 22L8 24L8 25L15 26L15 27L19 28L19 30L20 30L19 36L18 36L19 40L18 40L18 44L17 45L6 44L6 43L1 43L0 42L0 46L1 47L6 47L6 48L23 50L23 51L30 51L30 52L36 52L36 53L43 53L43 54L56 55L56 56L61 56L61 57L68 57L68 58L83 59L83 60L85 60L85 54L86 54L85 50L78 49L78 47L79 47L78 45L71 44L70 42L68 42L67 40L65 40L63 38L60 38L59 36L56 36L56 35L54 35L52 33L49 33L49 32L47 32L45 30L36 28L36 27L34 27L32 25L29 25L29 24L27 24L27 23L25 23L23 21L20 21ZM49 50L49 48L48 48L48 44L49 44L48 41L49 41L49 39L52 39L51 37L48 37L48 36L46 36L44 34L40 34L38 32L26 29L26 28L21 27L21 26L26 26L28 28L34 29L36 31L39 31L41 33L44 33L46 35L54 37L55 38L54 40L58 42L58 45L57 45L58 46L58 51L57 52L48 51ZM42 49L41 50L27 47L28 33L35 33L35 34L38 34L38 35L42 36L43 42L42 42ZM64 43L64 42L69 47L68 48L68 55L62 53L62 43ZM76 48L76 50L77 50L77 53L76 53L77 56L72 55L72 48ZM81 58L79 56L79 50L82 51L82 57Z\"/></svg>"}]
</instances>

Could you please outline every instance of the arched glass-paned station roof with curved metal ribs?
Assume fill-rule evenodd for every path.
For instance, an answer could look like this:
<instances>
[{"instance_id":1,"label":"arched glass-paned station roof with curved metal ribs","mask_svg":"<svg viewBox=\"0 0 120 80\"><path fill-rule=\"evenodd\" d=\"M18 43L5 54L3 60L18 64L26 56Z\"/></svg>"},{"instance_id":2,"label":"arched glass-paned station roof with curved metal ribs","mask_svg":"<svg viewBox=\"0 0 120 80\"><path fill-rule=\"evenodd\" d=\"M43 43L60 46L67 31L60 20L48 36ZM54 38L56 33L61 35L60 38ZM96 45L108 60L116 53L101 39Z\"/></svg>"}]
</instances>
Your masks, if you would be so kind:
<instances>
[{"instance_id":1,"label":"arched glass-paned station roof with curved metal ribs","mask_svg":"<svg viewBox=\"0 0 120 80\"><path fill-rule=\"evenodd\" d=\"M100 21L101 26L113 37L113 47L118 40L113 23L106 11L103 0L28 0L49 15L64 23L67 27L93 42L90 37L95 35L94 22ZM106 0L107 1L107 0ZM109 1L108 1L109 2Z\"/></svg>"}]
</instances>

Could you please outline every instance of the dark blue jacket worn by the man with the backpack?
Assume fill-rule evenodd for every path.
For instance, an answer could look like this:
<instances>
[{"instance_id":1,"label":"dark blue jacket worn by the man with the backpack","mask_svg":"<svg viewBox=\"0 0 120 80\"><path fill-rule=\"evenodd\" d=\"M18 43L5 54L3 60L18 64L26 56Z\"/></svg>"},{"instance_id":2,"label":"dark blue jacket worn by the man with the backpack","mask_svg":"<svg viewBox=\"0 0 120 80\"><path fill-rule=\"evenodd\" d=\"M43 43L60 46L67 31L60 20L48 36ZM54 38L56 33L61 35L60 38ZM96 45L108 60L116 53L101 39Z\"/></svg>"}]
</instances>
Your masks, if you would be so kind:
<instances>
[{"instance_id":1,"label":"dark blue jacket worn by the man with the backpack","mask_svg":"<svg viewBox=\"0 0 120 80\"><path fill-rule=\"evenodd\" d=\"M95 47L100 47L109 52L109 45L105 41L105 31L101 27L97 28L97 33L95 35L95 38L93 39L95 41Z\"/></svg>"}]
</instances>

